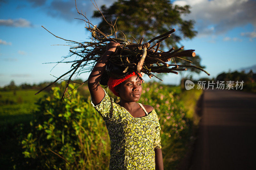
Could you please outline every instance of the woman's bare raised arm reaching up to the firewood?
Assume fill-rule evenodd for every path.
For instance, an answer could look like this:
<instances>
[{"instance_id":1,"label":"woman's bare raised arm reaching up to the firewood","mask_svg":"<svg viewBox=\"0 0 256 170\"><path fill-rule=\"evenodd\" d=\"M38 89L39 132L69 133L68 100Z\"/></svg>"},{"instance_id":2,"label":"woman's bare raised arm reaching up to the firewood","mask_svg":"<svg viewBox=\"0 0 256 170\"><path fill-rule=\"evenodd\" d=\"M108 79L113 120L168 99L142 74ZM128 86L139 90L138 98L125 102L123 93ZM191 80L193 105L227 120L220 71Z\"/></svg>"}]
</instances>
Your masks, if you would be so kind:
<instances>
[{"instance_id":1,"label":"woman's bare raised arm reaching up to the firewood","mask_svg":"<svg viewBox=\"0 0 256 170\"><path fill-rule=\"evenodd\" d=\"M102 77L103 72L105 71L108 59L115 52L117 45L119 45L119 43L108 43L106 52L100 57L99 61L95 64L88 78L88 88L91 93L92 103L94 105L99 104L105 96L104 90L100 86L100 79Z\"/></svg>"}]
</instances>

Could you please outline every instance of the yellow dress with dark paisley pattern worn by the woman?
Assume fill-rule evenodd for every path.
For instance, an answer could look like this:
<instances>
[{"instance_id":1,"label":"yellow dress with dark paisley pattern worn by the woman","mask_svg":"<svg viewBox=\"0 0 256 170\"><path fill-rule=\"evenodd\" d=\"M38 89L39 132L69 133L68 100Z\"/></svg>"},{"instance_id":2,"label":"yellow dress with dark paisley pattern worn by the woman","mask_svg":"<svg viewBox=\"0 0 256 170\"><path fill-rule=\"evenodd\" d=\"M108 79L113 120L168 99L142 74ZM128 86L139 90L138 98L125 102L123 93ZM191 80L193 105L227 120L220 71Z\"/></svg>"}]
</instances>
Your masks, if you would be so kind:
<instances>
[{"instance_id":1,"label":"yellow dress with dark paisley pattern worn by the woman","mask_svg":"<svg viewBox=\"0 0 256 170\"><path fill-rule=\"evenodd\" d=\"M103 117L108 129L111 141L109 169L155 169L154 148L162 148L161 127L155 109L135 118L106 92L100 104L93 107Z\"/></svg>"}]
</instances>

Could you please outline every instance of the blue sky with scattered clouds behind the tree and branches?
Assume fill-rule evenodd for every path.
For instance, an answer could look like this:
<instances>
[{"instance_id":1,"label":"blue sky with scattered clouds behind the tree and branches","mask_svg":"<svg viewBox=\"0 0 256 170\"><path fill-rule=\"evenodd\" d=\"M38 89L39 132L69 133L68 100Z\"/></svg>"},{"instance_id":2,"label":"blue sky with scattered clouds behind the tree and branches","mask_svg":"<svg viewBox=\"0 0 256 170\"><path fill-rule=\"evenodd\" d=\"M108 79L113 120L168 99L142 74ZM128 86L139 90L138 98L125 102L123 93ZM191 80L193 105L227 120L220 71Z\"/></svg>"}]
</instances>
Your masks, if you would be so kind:
<instances>
[{"instance_id":1,"label":"blue sky with scattered clouds behind the tree and branches","mask_svg":"<svg viewBox=\"0 0 256 170\"><path fill-rule=\"evenodd\" d=\"M98 6L111 5L114 0L97 0ZM204 72L193 78L214 78L222 72L256 66L256 1L255 0L176 0L173 4L190 5L183 19L195 20L198 32L193 39L185 39L180 46L195 49L211 76ZM93 24L95 10L90 0L77 0L79 10ZM74 0L0 0L0 86L14 80L16 85L54 81L70 68L69 64L43 64L58 62L69 53L64 40L86 41L90 32L75 8ZM179 30L179 28L176 28ZM256 72L256 70L255 70ZM52 76L53 75L53 76ZM185 73L186 75L186 73ZM83 80L88 74L81 74ZM144 78L144 77L143 77ZM179 84L178 75L163 77L165 84ZM149 81L149 78L144 78Z\"/></svg>"}]
</instances>

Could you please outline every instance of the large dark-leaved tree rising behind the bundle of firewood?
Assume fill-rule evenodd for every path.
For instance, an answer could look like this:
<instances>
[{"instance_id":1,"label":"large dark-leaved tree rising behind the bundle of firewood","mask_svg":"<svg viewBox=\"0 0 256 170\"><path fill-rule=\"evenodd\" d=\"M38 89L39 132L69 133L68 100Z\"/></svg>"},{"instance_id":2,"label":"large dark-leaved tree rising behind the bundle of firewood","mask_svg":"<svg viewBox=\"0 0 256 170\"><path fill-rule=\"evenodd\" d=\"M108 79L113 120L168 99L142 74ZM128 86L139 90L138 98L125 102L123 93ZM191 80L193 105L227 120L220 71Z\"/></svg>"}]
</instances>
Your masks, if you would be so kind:
<instances>
[{"instance_id":1,"label":"large dark-leaved tree rising behind the bundle of firewood","mask_svg":"<svg viewBox=\"0 0 256 170\"><path fill-rule=\"evenodd\" d=\"M181 15L190 13L189 8L188 5L183 7L173 5L169 0L118 0L109 7L102 5L100 11L107 21L112 21L112 23L116 21L116 26L120 30L117 32L117 38L126 38L128 41L134 41L133 37L140 41L141 37L144 37L143 40L147 42L155 36L175 27L178 28L178 33L172 34L170 38L161 42L161 48L169 50L172 47L178 49L178 44L182 39L191 39L196 36L194 20L181 18ZM100 11L94 11L93 15L93 17L101 18L97 27L102 32L110 34L110 28ZM201 58L198 55L189 58L189 60L193 62L193 65L204 68L200 65ZM172 62L180 64L186 62L187 64L187 61L179 58L175 58L175 61ZM189 70L196 73L200 72L194 68L189 68Z\"/></svg>"}]
</instances>

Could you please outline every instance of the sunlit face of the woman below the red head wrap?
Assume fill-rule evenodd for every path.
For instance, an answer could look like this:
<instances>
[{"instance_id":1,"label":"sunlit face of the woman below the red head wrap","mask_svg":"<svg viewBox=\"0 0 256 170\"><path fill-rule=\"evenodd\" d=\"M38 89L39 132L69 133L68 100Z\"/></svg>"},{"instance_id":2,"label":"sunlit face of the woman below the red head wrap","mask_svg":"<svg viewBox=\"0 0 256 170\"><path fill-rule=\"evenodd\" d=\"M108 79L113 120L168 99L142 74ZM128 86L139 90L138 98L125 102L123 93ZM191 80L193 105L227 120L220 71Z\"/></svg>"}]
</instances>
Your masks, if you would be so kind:
<instances>
[{"instance_id":1,"label":"sunlit face of the woman below the red head wrap","mask_svg":"<svg viewBox=\"0 0 256 170\"><path fill-rule=\"evenodd\" d=\"M119 92L120 98L128 102L139 101L141 91L141 80L137 75L126 79L116 87L116 92Z\"/></svg>"}]
</instances>

